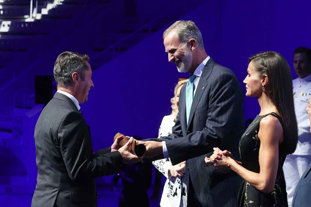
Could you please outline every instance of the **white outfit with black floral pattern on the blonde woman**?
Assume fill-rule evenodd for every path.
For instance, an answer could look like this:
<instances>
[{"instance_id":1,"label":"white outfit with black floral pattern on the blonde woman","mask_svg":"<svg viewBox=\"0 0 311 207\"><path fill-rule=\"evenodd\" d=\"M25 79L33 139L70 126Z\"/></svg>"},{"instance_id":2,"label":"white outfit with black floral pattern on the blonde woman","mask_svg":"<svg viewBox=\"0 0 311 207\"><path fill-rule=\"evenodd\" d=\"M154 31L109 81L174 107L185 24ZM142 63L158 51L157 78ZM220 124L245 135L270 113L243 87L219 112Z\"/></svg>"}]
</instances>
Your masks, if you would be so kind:
<instances>
[{"instance_id":1,"label":"white outfit with black floral pattern on the blonde woman","mask_svg":"<svg viewBox=\"0 0 311 207\"><path fill-rule=\"evenodd\" d=\"M175 125L174 115L163 117L159 128L159 137L167 136L172 133L172 127ZM188 177L181 176L174 178L169 173L169 166L172 165L169 158L156 160L152 164L158 169L166 178L163 193L161 197L161 207L185 207L187 206L187 186Z\"/></svg>"}]
</instances>

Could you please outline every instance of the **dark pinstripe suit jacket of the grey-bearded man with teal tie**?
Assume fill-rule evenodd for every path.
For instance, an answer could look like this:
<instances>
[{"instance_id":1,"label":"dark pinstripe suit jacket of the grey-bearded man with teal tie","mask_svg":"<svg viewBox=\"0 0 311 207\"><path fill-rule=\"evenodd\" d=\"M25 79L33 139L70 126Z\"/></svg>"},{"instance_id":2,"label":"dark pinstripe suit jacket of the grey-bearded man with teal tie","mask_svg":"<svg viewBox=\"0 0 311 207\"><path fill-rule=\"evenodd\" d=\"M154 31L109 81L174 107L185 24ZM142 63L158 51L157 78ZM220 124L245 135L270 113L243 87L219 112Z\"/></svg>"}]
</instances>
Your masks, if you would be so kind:
<instances>
[{"instance_id":1,"label":"dark pinstripe suit jacket of the grey-bearded man with teal tie","mask_svg":"<svg viewBox=\"0 0 311 207\"><path fill-rule=\"evenodd\" d=\"M241 178L233 171L208 166L204 158L209 157L216 146L239 158L238 142L244 130L239 81L230 69L208 60L193 97L188 125L185 88L186 84L180 92L173 134L153 140L166 141L172 164L187 160L186 176L190 176L195 199L202 206L235 206Z\"/></svg>"}]
</instances>

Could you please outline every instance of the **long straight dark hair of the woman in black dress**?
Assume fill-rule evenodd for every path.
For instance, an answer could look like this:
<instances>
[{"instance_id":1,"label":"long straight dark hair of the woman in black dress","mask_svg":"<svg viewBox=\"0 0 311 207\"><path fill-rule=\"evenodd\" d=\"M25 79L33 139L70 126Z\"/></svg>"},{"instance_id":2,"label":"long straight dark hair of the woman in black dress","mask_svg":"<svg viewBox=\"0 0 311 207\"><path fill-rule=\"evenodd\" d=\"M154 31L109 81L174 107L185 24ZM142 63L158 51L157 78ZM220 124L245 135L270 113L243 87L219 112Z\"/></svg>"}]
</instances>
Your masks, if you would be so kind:
<instances>
[{"instance_id":1,"label":"long straight dark hair of the woman in black dress","mask_svg":"<svg viewBox=\"0 0 311 207\"><path fill-rule=\"evenodd\" d=\"M251 61L259 74L268 75L265 92L282 117L285 152L292 154L298 142L298 127L290 66L280 53L273 51L257 53L249 58Z\"/></svg>"}]
</instances>

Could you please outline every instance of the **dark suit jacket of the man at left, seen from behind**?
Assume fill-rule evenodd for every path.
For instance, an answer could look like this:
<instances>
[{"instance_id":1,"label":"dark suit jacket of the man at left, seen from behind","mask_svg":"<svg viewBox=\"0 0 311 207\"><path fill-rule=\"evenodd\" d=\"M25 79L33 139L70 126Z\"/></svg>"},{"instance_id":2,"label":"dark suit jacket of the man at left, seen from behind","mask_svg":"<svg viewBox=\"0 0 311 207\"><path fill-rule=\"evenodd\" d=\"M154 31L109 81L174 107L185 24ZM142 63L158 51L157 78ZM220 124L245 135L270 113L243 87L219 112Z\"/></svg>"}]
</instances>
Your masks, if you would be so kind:
<instances>
[{"instance_id":1,"label":"dark suit jacket of the man at left, seen from behind","mask_svg":"<svg viewBox=\"0 0 311 207\"><path fill-rule=\"evenodd\" d=\"M93 154L86 122L70 98L55 93L34 137L38 176L31 206L97 206L94 178L118 172L122 157L110 148Z\"/></svg>"}]
</instances>

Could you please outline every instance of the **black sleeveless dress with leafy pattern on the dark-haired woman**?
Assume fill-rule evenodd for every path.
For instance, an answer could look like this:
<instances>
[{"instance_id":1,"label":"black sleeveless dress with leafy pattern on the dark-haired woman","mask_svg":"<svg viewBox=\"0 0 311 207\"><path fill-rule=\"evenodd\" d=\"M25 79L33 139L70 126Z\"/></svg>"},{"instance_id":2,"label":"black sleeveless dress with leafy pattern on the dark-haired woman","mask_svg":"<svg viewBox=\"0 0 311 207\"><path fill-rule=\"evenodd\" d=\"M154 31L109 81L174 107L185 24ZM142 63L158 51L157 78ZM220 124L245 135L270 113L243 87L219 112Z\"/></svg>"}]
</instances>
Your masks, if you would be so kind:
<instances>
[{"instance_id":1,"label":"black sleeveless dress with leafy pattern on the dark-haired woman","mask_svg":"<svg viewBox=\"0 0 311 207\"><path fill-rule=\"evenodd\" d=\"M239 142L239 152L241 156L242 166L252 172L259 173L259 147L260 140L258 138L259 132L259 123L260 120L267 116L275 116L281 123L283 127L282 119L276 113L269 113L262 116L257 116L253 122L248 126L244 134L242 135ZM284 127L283 127L284 128ZM286 157L283 146L285 145L284 141L279 146L279 165L276 175L276 183L274 189L270 193L263 193L257 188L250 185L245 180L242 181L239 195L238 195L238 207L283 207L283 196L281 189L278 185L278 179L280 177L284 160Z\"/></svg>"}]
</instances>

